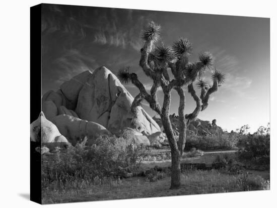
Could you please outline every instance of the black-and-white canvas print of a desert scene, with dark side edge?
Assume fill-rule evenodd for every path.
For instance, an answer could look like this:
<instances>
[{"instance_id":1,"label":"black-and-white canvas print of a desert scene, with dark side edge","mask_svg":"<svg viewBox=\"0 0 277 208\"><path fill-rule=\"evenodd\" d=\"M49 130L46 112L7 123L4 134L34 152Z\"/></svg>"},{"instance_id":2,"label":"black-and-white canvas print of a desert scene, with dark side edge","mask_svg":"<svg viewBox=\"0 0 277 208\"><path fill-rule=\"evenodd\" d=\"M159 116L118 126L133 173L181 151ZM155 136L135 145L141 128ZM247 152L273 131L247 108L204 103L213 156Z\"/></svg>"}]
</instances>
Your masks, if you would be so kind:
<instances>
[{"instance_id":1,"label":"black-and-white canvas print of a desert scene, with dark side edge","mask_svg":"<svg viewBox=\"0 0 277 208\"><path fill-rule=\"evenodd\" d=\"M51 4L37 15L31 198L270 188L268 18Z\"/></svg>"}]
</instances>

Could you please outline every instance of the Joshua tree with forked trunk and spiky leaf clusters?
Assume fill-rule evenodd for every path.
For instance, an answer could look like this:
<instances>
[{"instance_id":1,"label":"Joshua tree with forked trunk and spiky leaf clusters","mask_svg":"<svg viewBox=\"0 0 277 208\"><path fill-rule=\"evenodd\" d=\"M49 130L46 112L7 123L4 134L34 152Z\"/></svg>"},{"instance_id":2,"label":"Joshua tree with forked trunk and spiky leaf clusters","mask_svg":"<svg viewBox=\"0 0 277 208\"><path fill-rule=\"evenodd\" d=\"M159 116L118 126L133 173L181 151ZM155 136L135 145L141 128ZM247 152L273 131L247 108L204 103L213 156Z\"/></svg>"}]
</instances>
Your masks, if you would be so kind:
<instances>
[{"instance_id":1,"label":"Joshua tree with forked trunk and spiky leaf clusters","mask_svg":"<svg viewBox=\"0 0 277 208\"><path fill-rule=\"evenodd\" d=\"M218 90L219 84L225 80L225 75L215 70L212 74L213 85L209 86L209 82L202 79L202 75L206 68L213 65L213 55L209 52L204 52L199 55L199 61L190 63L189 56L192 53L192 45L187 39L180 38L174 42L172 48L166 47L163 44L158 44L160 40L161 27L154 22L151 22L143 30L142 39L145 44L141 49L140 66L144 73L153 80L150 93L148 93L143 83L138 80L135 73L129 73L129 68L125 67L119 70L117 76L123 83L132 82L139 90L131 105L131 111L136 117L136 107L140 105L142 100L146 100L150 108L161 117L165 134L171 149L171 189L180 187L180 161L185 147L186 128L189 123L196 119L200 111L203 111L208 106L209 97L212 93ZM173 75L170 78L169 71ZM201 89L200 97L194 90L193 83ZM163 105L161 106L157 99L157 89L162 87L164 93ZM185 91L184 87L188 88L188 92L193 97L196 107L190 113L184 113L185 110ZM169 109L171 102L171 91L176 90L179 97L179 138L175 138L173 129L169 119Z\"/></svg>"}]
</instances>

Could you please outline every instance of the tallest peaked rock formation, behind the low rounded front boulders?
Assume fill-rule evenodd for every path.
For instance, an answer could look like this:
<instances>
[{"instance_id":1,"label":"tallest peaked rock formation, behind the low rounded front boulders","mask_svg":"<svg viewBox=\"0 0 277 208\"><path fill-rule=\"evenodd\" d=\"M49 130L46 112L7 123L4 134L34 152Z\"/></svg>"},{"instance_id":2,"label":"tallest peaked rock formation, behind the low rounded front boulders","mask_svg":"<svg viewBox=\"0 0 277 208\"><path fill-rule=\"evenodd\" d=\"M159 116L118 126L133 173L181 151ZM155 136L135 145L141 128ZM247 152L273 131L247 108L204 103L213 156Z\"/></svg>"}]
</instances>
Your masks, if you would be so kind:
<instances>
[{"instance_id":1,"label":"tallest peaked rock formation, behind the low rounded front boulders","mask_svg":"<svg viewBox=\"0 0 277 208\"><path fill-rule=\"evenodd\" d=\"M161 131L140 106L137 107L136 119L133 119L130 109L132 101L132 95L103 66L93 73L85 71L73 77L61 84L56 92L46 92L42 97L42 109L50 121L55 121L58 115L68 115L97 123L113 134L126 127L148 134Z\"/></svg>"}]
</instances>

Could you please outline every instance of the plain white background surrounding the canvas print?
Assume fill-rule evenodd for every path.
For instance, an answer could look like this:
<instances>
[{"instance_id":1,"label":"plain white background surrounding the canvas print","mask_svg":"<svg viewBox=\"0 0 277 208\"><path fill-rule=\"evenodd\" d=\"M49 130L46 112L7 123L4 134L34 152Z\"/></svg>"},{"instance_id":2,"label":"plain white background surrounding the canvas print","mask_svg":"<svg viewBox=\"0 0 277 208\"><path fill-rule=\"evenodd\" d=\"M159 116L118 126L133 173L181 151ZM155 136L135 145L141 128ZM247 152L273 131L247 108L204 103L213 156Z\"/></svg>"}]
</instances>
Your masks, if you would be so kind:
<instances>
[{"instance_id":1,"label":"plain white background surrounding the canvas print","mask_svg":"<svg viewBox=\"0 0 277 208\"><path fill-rule=\"evenodd\" d=\"M1 79L0 79L0 206L37 207L29 201L29 125L30 125L30 7L40 1L1 2ZM44 1L98 7L147 9L270 18L270 86L271 86L271 190L239 193L80 202L57 207L276 207L276 6L274 1ZM274 14L275 13L275 14ZM274 38L275 37L275 38ZM39 78L39 77L38 77ZM37 86L40 87L40 86ZM274 108L275 107L275 108ZM255 113L255 112L253 112ZM257 115L258 116L258 115ZM45 205L50 206L50 205ZM53 206L53 205L52 205Z\"/></svg>"}]
</instances>

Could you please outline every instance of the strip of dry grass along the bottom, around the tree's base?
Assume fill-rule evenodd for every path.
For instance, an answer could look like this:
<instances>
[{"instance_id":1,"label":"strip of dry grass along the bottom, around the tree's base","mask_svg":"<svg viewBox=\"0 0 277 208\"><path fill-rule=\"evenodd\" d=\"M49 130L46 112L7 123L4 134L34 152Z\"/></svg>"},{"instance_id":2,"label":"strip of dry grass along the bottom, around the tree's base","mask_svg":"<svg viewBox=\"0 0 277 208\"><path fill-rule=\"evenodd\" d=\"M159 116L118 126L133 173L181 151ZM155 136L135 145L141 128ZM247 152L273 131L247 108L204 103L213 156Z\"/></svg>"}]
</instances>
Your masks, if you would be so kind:
<instances>
[{"instance_id":1,"label":"strip of dry grass along the bottom, around the tree's base","mask_svg":"<svg viewBox=\"0 0 277 208\"><path fill-rule=\"evenodd\" d=\"M61 203L269 189L269 181L248 173L230 175L218 170L187 170L181 180L182 186L178 190L169 189L170 177L156 182L145 177L106 178L94 180L83 187L65 189L49 185L43 190L42 198L43 203Z\"/></svg>"}]
</instances>

